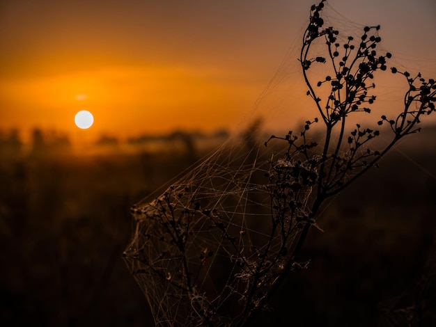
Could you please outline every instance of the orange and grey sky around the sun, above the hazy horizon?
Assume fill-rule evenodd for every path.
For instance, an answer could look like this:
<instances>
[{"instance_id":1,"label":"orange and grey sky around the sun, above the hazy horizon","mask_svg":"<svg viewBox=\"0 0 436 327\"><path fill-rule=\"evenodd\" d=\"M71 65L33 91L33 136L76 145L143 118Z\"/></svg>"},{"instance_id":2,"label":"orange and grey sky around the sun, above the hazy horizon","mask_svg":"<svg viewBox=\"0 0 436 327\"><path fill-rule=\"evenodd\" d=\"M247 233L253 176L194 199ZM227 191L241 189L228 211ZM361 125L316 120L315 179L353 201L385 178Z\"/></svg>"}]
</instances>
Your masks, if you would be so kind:
<instances>
[{"instance_id":1,"label":"orange and grey sky around the sun, above the hazy horizon","mask_svg":"<svg viewBox=\"0 0 436 327\"><path fill-rule=\"evenodd\" d=\"M313 3L0 0L0 130L75 134L81 109L94 115L80 131L90 137L233 128L297 49ZM434 0L328 3L356 24L382 25L396 64L436 76ZM292 107L286 119L303 119Z\"/></svg>"}]
</instances>

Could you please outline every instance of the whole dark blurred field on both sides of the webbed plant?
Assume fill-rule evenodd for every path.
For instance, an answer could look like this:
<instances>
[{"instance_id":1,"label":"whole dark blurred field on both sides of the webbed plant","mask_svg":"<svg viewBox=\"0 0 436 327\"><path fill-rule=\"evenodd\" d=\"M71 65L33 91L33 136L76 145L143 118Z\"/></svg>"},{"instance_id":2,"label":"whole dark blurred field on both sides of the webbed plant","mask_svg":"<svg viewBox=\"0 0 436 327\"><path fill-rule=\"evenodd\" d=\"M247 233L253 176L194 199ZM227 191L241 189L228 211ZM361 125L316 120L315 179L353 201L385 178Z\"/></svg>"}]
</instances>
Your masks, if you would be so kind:
<instances>
[{"instance_id":1,"label":"whole dark blurred field on both sides of the webbed plant","mask_svg":"<svg viewBox=\"0 0 436 327\"><path fill-rule=\"evenodd\" d=\"M121 255L129 207L212 150L176 138L160 151L86 156L2 143L2 326L153 326ZM309 269L288 278L276 312L255 325L389 326L385 318L400 317L384 309L416 304L423 287L415 282L430 270L423 317L435 326L436 264L426 268L435 251L435 149L436 129L423 129L332 199L318 221L325 232L313 230L305 244Z\"/></svg>"}]
</instances>

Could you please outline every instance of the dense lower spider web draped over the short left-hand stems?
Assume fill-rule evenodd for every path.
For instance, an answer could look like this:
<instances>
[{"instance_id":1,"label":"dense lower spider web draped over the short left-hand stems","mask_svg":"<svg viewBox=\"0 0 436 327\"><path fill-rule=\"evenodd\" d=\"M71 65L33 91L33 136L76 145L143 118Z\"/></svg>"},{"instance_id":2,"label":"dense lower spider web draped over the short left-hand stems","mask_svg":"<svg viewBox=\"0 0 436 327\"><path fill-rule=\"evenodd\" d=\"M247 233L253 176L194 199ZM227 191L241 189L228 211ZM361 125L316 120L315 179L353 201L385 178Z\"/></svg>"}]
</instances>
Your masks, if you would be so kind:
<instances>
[{"instance_id":1,"label":"dense lower spider web draped over the short left-hand stems","mask_svg":"<svg viewBox=\"0 0 436 327\"><path fill-rule=\"evenodd\" d=\"M281 250L280 234L270 233L270 165L267 152L226 144L162 196L132 207L137 224L125 257L157 325L196 326L209 316L228 323L238 314L260 254ZM292 244L299 229L283 228L293 229Z\"/></svg>"}]
</instances>

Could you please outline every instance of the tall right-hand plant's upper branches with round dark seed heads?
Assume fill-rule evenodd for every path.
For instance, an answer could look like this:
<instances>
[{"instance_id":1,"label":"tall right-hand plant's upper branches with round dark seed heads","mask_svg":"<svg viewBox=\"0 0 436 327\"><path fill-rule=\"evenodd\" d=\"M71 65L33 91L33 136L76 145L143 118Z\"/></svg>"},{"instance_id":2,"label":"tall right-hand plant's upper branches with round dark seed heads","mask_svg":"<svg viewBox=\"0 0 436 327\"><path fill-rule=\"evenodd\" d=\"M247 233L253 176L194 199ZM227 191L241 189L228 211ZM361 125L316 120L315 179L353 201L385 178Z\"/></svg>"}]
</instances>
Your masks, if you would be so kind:
<instances>
[{"instance_id":1,"label":"tall right-hand plant's upper branches with round dark seed heads","mask_svg":"<svg viewBox=\"0 0 436 327\"><path fill-rule=\"evenodd\" d=\"M361 127L359 124L347 134L348 116L357 112L371 113L370 106L376 100L376 96L369 93L375 88L374 74L377 70L387 70L387 61L391 54L377 53L377 45L381 38L373 32L378 31L380 25L366 26L357 42L349 36L347 42L339 43L339 31L333 27L324 27L320 15L324 2L325 0L322 0L318 6L311 7L311 18L304 33L299 58L304 80L309 88L306 95L315 102L321 121L325 125L323 144L306 141L306 132L313 122L318 122L317 118L313 122L306 122L301 138L293 135L292 131L284 137L270 138L279 138L289 144L285 158L272 161L269 174L270 180L274 182L271 183L274 185L271 194L278 221L283 221L283 218L287 217L291 222L294 220L298 228L302 228L297 245L286 264L285 273L296 262L309 228L312 225L318 227L315 218L322 202L377 166L377 161L401 138L421 130L417 125L423 116L435 111L435 79L423 79L420 73L416 74L416 77L410 77L409 72L400 72L396 67L391 67L393 74L405 77L408 87L404 97L404 108L400 113L394 118L382 115L377 122L377 125L389 125L392 132L391 141L382 148L371 149L371 142L380 135L380 131ZM311 45L319 38L325 39L327 56L313 58ZM331 64L332 74L327 75L323 81L313 83L309 77L309 70L315 69L316 65L327 63ZM325 98L318 95L322 86L328 90ZM335 139L332 138L334 133L338 135ZM318 152L318 148L322 150ZM299 200L301 190L307 188L311 188L311 198L309 201L306 200L305 191L304 201ZM286 247L284 244L286 240L283 241L283 247Z\"/></svg>"}]
</instances>

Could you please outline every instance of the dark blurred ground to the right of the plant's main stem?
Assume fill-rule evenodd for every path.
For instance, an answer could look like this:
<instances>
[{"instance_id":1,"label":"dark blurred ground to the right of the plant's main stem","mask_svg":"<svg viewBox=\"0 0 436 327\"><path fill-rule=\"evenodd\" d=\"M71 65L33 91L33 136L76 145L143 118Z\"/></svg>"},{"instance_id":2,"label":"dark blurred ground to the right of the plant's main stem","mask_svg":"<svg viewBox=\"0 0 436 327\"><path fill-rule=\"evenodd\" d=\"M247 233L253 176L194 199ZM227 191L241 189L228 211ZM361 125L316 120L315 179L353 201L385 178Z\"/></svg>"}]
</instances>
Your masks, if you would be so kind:
<instances>
[{"instance_id":1,"label":"dark blurred ground to the right of the plant's main stem","mask_svg":"<svg viewBox=\"0 0 436 327\"><path fill-rule=\"evenodd\" d=\"M436 324L436 130L412 136L332 200L254 326ZM416 142L416 143L415 143ZM418 145L418 146L416 146Z\"/></svg>"}]
</instances>

